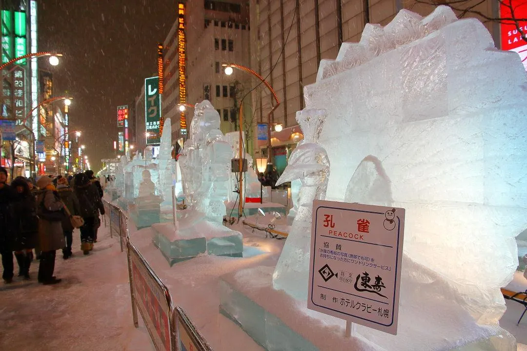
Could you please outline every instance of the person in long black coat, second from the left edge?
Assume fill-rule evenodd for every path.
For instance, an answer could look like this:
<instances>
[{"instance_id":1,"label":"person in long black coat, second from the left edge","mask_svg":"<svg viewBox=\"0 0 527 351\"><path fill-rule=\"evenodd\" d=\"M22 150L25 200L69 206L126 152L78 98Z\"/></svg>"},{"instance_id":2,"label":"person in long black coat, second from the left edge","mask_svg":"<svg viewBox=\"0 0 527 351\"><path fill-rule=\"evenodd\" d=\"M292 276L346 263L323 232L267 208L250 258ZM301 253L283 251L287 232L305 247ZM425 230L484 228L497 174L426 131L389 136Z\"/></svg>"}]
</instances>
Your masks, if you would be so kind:
<instances>
[{"instance_id":1,"label":"person in long black coat, second from the left edge","mask_svg":"<svg viewBox=\"0 0 527 351\"><path fill-rule=\"evenodd\" d=\"M13 213L13 246L18 276L30 279L30 266L33 259L33 248L38 240L38 217L36 200L24 177L16 177L11 183L15 190L12 203Z\"/></svg>"}]
</instances>

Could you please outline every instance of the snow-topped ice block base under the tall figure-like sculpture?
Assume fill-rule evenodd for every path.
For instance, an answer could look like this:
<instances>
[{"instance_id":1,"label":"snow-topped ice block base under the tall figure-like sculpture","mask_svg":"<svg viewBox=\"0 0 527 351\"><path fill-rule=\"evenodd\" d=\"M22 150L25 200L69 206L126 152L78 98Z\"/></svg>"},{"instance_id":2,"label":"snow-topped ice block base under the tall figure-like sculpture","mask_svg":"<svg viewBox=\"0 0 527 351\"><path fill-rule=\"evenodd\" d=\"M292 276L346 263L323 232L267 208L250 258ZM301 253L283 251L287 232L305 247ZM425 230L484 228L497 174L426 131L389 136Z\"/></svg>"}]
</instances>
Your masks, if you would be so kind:
<instances>
[{"instance_id":1,"label":"snow-topped ice block base under the tall figure-like sculpture","mask_svg":"<svg viewBox=\"0 0 527 351\"><path fill-rule=\"evenodd\" d=\"M191 222L191 221L189 221ZM240 232L207 221L174 229L172 223L154 224L153 243L170 265L199 255L242 257L243 237Z\"/></svg>"}]
</instances>

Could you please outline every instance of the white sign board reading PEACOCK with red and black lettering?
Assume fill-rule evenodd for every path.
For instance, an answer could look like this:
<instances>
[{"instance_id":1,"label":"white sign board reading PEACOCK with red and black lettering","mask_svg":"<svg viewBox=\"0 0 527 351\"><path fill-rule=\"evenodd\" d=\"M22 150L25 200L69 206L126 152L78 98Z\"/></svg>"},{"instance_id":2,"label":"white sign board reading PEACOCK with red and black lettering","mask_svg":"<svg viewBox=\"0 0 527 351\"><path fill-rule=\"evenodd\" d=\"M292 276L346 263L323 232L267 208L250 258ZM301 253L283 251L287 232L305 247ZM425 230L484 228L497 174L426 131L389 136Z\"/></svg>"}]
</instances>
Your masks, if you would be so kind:
<instances>
[{"instance_id":1,"label":"white sign board reading PEACOCK with red and black lettering","mask_svg":"<svg viewBox=\"0 0 527 351\"><path fill-rule=\"evenodd\" d=\"M404 212L315 200L307 307L396 335Z\"/></svg>"}]
</instances>

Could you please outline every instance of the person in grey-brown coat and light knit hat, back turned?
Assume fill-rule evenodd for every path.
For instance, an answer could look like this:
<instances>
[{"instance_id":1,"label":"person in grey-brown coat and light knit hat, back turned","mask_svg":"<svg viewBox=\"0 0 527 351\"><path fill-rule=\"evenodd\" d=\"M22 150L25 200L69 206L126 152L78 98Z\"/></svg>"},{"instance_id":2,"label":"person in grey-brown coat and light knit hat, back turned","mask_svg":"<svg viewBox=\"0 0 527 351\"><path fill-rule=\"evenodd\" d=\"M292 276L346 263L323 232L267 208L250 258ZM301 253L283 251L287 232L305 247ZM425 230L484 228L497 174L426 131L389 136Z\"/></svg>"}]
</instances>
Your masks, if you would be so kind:
<instances>
[{"instance_id":1,"label":"person in grey-brown coat and light knit hat, back turned","mask_svg":"<svg viewBox=\"0 0 527 351\"><path fill-rule=\"evenodd\" d=\"M41 177L36 185L43 190L37 197L38 237L42 251L38 266L38 282L44 285L60 283L62 279L53 276L56 250L64 247L62 204L50 177Z\"/></svg>"}]
</instances>

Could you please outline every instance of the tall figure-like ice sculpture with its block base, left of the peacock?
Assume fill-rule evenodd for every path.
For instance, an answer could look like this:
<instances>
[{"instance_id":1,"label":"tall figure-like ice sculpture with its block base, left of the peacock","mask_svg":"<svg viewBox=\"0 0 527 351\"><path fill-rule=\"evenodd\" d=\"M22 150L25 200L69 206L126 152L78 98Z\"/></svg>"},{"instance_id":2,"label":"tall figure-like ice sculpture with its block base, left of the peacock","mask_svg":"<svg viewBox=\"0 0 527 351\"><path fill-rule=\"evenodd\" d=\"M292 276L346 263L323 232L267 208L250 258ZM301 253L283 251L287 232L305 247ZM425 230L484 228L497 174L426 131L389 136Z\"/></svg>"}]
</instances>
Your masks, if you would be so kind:
<instances>
[{"instance_id":1,"label":"tall figure-like ice sculpture with its block base, left of the peacock","mask_svg":"<svg viewBox=\"0 0 527 351\"><path fill-rule=\"evenodd\" d=\"M154 245L171 264L203 253L241 256L241 233L223 226L232 147L207 100L196 104L189 135L178 160L188 208L180 212L177 228L171 223L152 226Z\"/></svg>"}]
</instances>

